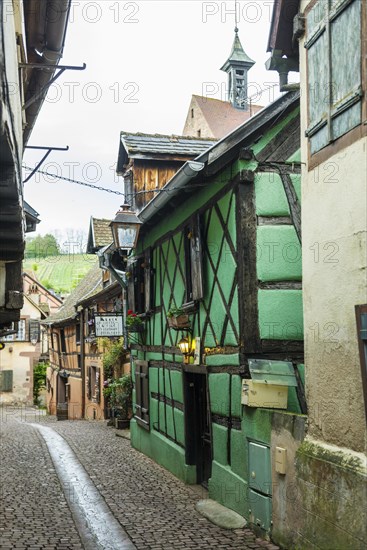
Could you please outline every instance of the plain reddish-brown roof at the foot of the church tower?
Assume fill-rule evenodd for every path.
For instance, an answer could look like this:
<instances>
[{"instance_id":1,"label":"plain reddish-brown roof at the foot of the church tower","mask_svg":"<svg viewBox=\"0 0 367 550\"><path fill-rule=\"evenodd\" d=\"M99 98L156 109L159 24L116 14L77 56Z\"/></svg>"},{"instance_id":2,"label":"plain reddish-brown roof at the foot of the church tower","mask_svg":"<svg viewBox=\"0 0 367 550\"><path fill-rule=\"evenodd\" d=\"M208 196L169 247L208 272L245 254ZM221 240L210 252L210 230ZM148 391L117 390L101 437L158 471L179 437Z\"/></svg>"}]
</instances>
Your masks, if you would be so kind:
<instances>
[{"instance_id":1,"label":"plain reddish-brown roof at the foot of the church tower","mask_svg":"<svg viewBox=\"0 0 367 550\"><path fill-rule=\"evenodd\" d=\"M217 139L226 136L264 108L261 105L251 105L248 111L242 111L233 107L229 101L199 95L192 97L195 98L209 128Z\"/></svg>"}]
</instances>

